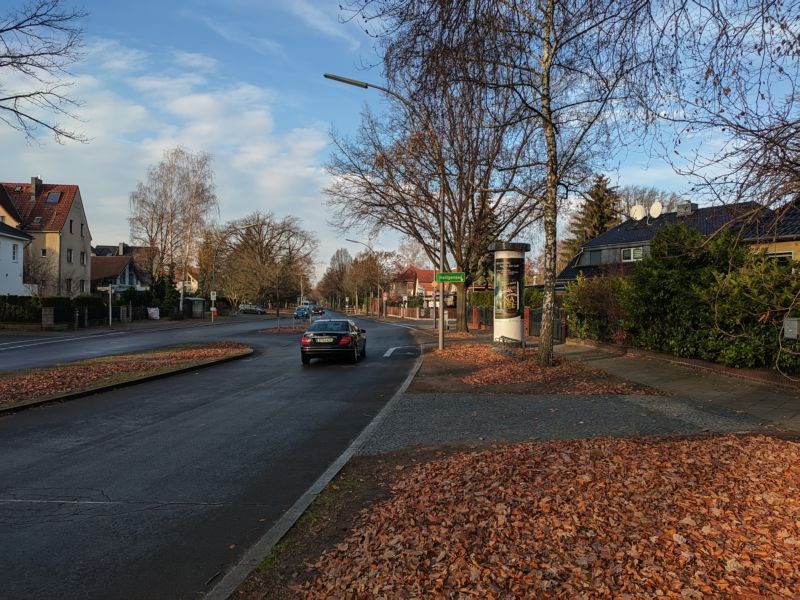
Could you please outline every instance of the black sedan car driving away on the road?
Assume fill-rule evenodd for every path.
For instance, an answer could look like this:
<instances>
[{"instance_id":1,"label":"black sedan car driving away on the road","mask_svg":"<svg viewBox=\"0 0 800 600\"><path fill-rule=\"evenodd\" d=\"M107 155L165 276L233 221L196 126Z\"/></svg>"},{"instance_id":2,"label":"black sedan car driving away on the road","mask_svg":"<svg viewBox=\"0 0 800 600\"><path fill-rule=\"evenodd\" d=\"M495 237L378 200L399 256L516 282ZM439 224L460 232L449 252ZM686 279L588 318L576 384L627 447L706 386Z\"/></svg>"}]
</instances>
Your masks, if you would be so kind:
<instances>
[{"instance_id":1,"label":"black sedan car driving away on the road","mask_svg":"<svg viewBox=\"0 0 800 600\"><path fill-rule=\"evenodd\" d=\"M304 365L326 356L357 362L367 355L366 333L350 319L317 319L300 338L300 358Z\"/></svg>"}]
</instances>

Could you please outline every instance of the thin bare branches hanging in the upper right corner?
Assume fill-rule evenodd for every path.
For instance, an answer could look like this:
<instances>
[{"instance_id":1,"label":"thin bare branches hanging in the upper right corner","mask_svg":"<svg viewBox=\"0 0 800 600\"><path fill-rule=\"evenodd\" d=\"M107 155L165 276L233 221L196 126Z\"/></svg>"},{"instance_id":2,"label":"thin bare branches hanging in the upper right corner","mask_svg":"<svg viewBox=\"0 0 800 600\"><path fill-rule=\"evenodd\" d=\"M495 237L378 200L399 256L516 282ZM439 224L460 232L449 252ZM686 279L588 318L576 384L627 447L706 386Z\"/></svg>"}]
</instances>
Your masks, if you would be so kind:
<instances>
[{"instance_id":1,"label":"thin bare branches hanging in the upper right corner","mask_svg":"<svg viewBox=\"0 0 800 600\"><path fill-rule=\"evenodd\" d=\"M678 0L661 26L647 116L697 197L800 197L800 2Z\"/></svg>"}]
</instances>

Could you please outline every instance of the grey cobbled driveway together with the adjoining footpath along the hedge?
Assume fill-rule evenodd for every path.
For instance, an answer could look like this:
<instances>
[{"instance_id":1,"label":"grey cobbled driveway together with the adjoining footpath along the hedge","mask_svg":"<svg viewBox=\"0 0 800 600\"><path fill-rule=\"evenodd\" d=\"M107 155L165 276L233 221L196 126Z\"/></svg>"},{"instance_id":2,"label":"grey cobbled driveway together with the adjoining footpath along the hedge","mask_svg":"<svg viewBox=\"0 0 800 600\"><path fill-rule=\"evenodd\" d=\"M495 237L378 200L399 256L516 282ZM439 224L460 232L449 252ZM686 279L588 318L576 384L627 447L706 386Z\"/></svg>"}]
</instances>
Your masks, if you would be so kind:
<instances>
[{"instance_id":1,"label":"grey cobbled driveway together with the adjoining footpath along the hedge","mask_svg":"<svg viewBox=\"0 0 800 600\"><path fill-rule=\"evenodd\" d=\"M433 336L418 333L430 346ZM491 343L491 336L460 341ZM535 384L515 394L405 392L357 453L597 436L800 435L800 389L775 373L734 377L731 369L701 361L690 366L667 355L578 343L555 351L669 395L553 395L537 392Z\"/></svg>"}]
</instances>

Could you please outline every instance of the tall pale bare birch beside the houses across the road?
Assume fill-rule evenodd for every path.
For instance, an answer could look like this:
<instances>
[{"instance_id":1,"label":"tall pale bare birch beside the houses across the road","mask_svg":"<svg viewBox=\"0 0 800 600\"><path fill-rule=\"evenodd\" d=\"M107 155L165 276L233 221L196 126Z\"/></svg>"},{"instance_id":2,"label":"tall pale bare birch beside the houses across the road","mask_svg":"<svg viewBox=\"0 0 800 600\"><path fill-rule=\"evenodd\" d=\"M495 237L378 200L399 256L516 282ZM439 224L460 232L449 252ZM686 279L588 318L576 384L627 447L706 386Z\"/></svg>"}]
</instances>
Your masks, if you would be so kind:
<instances>
[{"instance_id":1,"label":"tall pale bare birch beside the houses across the road","mask_svg":"<svg viewBox=\"0 0 800 600\"><path fill-rule=\"evenodd\" d=\"M178 269L182 281L195 259L211 213L218 208L211 156L182 147L164 152L130 195L131 238L151 248L151 273ZM181 285L181 301L183 300Z\"/></svg>"}]
</instances>

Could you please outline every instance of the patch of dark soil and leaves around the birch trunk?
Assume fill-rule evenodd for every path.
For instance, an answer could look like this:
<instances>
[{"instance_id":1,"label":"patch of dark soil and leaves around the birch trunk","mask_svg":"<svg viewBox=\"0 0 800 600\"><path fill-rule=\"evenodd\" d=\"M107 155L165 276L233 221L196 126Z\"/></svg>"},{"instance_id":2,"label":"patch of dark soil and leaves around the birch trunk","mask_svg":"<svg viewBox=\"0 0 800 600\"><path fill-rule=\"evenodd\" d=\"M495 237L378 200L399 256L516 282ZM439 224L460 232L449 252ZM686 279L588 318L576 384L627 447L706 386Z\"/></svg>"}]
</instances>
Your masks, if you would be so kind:
<instances>
[{"instance_id":1,"label":"patch of dark soil and leaves around the birch trunk","mask_svg":"<svg viewBox=\"0 0 800 600\"><path fill-rule=\"evenodd\" d=\"M488 390L532 394L650 394L662 391L626 381L582 362L556 356L551 367L537 364L534 348L503 349L486 343L456 343L426 355L412 393ZM458 374L461 385L454 385ZM440 381L446 379L445 386Z\"/></svg>"}]
</instances>

